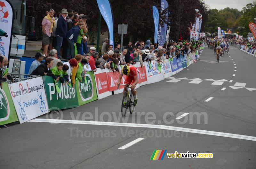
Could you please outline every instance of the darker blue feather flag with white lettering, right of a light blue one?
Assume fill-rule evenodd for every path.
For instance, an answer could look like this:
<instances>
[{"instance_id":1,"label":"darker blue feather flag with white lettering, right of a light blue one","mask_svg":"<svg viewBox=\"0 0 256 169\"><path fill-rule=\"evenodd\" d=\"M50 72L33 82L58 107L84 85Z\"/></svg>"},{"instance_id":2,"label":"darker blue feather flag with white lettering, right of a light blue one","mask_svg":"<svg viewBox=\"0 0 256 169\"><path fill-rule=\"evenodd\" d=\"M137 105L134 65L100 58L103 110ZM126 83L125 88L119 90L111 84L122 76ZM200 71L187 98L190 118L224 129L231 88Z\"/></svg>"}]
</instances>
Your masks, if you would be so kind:
<instances>
[{"instance_id":1,"label":"darker blue feather flag with white lettering, right of a light blue one","mask_svg":"<svg viewBox=\"0 0 256 169\"><path fill-rule=\"evenodd\" d=\"M161 12L163 12L168 7L168 3L166 0L161 0ZM168 18L168 12L165 14L166 18ZM164 46L165 38L166 38L166 31L167 31L167 23L164 23L163 27L159 25L159 32L157 37L157 42L159 46Z\"/></svg>"}]
</instances>

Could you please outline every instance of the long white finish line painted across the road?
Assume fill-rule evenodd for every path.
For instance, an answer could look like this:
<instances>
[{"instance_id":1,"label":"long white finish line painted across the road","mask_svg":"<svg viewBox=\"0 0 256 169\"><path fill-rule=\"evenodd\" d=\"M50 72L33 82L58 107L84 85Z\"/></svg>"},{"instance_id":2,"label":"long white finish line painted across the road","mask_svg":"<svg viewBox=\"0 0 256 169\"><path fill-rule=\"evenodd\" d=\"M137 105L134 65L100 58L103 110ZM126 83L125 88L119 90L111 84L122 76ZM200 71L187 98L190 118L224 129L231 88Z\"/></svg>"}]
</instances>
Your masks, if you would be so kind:
<instances>
[{"instance_id":1,"label":"long white finish line painted across the road","mask_svg":"<svg viewBox=\"0 0 256 169\"><path fill-rule=\"evenodd\" d=\"M207 134L221 137L237 138L243 140L256 141L256 137L240 134L231 134L223 132L215 132L208 130L197 130L193 128L173 127L165 125L153 125L153 124L134 124L134 123L115 123L115 122L101 122L101 121L81 121L81 120L60 120L60 119L32 119L28 122L42 122L42 123L64 123L64 124L87 124L87 125L101 125L101 126L119 126L119 127L140 127L140 128L157 128L164 130L173 130L188 133Z\"/></svg>"}]
</instances>

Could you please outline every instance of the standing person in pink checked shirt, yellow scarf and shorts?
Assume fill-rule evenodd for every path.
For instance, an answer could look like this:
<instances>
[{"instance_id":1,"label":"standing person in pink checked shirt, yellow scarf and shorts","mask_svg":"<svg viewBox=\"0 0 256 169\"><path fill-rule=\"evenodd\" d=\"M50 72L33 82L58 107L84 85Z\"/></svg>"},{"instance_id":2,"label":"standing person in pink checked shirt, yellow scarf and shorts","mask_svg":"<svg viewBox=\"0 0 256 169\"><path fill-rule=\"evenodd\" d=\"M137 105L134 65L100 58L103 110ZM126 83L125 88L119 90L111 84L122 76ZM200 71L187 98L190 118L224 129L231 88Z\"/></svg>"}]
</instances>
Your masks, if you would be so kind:
<instances>
[{"instance_id":1,"label":"standing person in pink checked shirt, yellow scarf and shorts","mask_svg":"<svg viewBox=\"0 0 256 169\"><path fill-rule=\"evenodd\" d=\"M50 9L49 14L46 15L42 21L44 56L47 56L49 44L52 42L52 28L55 27L55 19L53 15L54 10Z\"/></svg>"}]
</instances>

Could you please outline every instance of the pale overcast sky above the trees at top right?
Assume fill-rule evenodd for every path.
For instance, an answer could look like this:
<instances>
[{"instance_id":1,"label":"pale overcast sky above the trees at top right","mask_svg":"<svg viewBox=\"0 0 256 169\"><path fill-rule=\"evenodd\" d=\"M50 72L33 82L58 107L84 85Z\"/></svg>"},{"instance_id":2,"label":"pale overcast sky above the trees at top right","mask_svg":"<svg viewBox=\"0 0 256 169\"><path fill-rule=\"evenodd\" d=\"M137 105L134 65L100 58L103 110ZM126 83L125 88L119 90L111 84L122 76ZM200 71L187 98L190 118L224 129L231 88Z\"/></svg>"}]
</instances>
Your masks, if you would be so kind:
<instances>
[{"instance_id":1,"label":"pale overcast sky above the trees at top right","mask_svg":"<svg viewBox=\"0 0 256 169\"><path fill-rule=\"evenodd\" d=\"M236 8L239 11L245 7L246 4L253 3L254 0L204 0L205 4L209 5L211 9L224 9L226 7Z\"/></svg>"}]
</instances>

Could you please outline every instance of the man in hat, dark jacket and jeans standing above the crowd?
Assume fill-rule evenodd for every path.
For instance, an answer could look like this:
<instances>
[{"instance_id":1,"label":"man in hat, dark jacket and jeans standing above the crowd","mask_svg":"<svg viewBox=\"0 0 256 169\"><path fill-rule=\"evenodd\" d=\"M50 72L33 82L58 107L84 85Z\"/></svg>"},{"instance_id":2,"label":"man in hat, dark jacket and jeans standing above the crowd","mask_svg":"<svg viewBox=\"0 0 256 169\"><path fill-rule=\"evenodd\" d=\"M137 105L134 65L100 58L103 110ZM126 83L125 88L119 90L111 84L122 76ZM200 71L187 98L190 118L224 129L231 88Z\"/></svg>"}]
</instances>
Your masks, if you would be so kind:
<instances>
[{"instance_id":1,"label":"man in hat, dark jacket and jeans standing above the crowd","mask_svg":"<svg viewBox=\"0 0 256 169\"><path fill-rule=\"evenodd\" d=\"M67 30L68 30L68 26L67 26L67 22L66 22L67 15L68 15L67 9L62 9L61 16L57 22L57 28L56 28L55 35L56 35L56 39L57 39L56 50L58 52L58 58L60 58L60 47L62 45L63 38L66 37Z\"/></svg>"}]
</instances>

